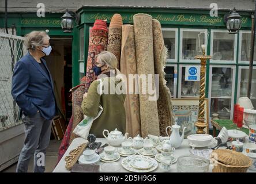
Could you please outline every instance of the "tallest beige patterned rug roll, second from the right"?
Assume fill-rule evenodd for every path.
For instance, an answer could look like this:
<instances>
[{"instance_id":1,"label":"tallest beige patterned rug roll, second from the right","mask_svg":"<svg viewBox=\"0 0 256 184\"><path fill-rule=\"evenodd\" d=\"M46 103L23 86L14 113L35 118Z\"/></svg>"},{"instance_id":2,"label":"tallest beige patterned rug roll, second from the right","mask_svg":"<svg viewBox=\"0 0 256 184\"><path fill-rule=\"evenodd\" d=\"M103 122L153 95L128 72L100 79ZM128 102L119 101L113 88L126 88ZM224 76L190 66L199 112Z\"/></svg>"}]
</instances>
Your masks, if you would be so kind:
<instances>
[{"instance_id":1,"label":"tallest beige patterned rug roll, second from the right","mask_svg":"<svg viewBox=\"0 0 256 184\"><path fill-rule=\"evenodd\" d=\"M138 74L153 75L155 72L152 16L148 14L135 14L133 16L133 22ZM155 84L155 78L153 78L152 82ZM149 85L152 86L152 84ZM157 102L149 101L149 97L148 90L146 94L142 94L140 87L141 135L143 137L149 134L159 136Z\"/></svg>"}]
</instances>

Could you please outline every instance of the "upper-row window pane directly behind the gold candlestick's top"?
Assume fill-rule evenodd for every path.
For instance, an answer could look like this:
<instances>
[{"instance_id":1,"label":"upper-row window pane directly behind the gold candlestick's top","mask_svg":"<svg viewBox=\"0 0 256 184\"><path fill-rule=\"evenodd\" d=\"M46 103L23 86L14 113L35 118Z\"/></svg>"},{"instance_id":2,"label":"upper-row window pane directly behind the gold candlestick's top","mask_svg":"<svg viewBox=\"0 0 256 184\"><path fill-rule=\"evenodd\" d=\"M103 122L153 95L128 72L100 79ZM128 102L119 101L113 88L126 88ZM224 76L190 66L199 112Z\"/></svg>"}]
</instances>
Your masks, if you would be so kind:
<instances>
[{"instance_id":1,"label":"upper-row window pane directly behind the gold candlestick's top","mask_svg":"<svg viewBox=\"0 0 256 184\"><path fill-rule=\"evenodd\" d=\"M201 47L201 45L204 43L205 43L204 32L183 31L181 58L194 59L194 56L201 54L199 52L199 49L200 49L199 47Z\"/></svg>"}]
</instances>

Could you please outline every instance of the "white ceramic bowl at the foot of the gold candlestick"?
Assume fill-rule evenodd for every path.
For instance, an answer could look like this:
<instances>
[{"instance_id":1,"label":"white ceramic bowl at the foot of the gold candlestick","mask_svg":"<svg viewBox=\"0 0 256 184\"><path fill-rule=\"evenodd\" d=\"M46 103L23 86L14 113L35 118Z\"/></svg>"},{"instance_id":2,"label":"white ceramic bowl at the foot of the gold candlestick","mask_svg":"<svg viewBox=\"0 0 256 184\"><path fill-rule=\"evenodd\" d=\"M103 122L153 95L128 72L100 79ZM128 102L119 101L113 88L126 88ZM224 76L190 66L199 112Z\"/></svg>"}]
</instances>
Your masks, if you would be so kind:
<instances>
[{"instance_id":1,"label":"white ceramic bowl at the foot of the gold candlestick","mask_svg":"<svg viewBox=\"0 0 256 184\"><path fill-rule=\"evenodd\" d=\"M212 143L213 137L208 134L193 134L187 136L187 139L194 147L206 147Z\"/></svg>"}]
</instances>

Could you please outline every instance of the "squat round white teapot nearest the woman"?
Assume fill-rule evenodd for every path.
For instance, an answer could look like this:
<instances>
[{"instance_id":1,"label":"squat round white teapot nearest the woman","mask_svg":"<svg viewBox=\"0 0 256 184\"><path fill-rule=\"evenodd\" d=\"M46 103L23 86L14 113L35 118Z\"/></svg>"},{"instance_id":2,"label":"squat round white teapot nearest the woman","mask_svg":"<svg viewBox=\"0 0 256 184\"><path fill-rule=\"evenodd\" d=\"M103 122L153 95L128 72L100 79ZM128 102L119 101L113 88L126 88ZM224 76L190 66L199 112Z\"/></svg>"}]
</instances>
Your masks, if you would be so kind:
<instances>
[{"instance_id":1,"label":"squat round white teapot nearest the woman","mask_svg":"<svg viewBox=\"0 0 256 184\"><path fill-rule=\"evenodd\" d=\"M107 132L108 137L104 134L104 132ZM127 139L128 136L128 133L125 133L125 136L123 136L122 132L118 131L117 128L111 132L104 129L102 133L103 136L107 139L108 143L110 143L110 145L112 146L120 146L122 142Z\"/></svg>"}]
</instances>

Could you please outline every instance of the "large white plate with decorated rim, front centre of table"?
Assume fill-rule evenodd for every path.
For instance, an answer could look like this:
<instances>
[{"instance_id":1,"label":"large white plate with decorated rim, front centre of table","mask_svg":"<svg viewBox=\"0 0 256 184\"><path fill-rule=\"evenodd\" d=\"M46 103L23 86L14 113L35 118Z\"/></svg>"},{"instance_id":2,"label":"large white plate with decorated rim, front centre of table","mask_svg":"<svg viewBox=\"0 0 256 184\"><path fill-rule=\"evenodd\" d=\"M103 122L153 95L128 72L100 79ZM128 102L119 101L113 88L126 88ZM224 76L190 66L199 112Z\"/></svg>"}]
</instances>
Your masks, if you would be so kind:
<instances>
[{"instance_id":1,"label":"large white plate with decorated rim, front centre of table","mask_svg":"<svg viewBox=\"0 0 256 184\"><path fill-rule=\"evenodd\" d=\"M152 165L152 167L148 169L138 169L131 166L130 163L133 163L134 160L144 160L144 162L148 162L149 165ZM155 170L158 166L158 163L156 160L149 158L148 156L141 156L141 155L133 155L133 156L127 156L124 158L121 162L123 168L125 168L128 171L135 172L135 173L148 173Z\"/></svg>"}]
</instances>

